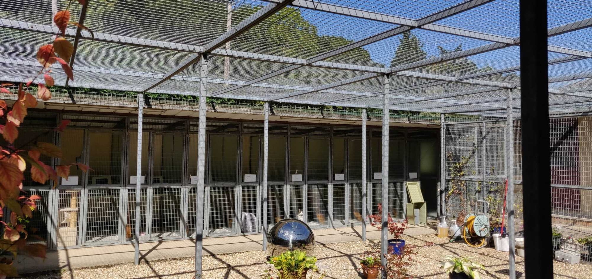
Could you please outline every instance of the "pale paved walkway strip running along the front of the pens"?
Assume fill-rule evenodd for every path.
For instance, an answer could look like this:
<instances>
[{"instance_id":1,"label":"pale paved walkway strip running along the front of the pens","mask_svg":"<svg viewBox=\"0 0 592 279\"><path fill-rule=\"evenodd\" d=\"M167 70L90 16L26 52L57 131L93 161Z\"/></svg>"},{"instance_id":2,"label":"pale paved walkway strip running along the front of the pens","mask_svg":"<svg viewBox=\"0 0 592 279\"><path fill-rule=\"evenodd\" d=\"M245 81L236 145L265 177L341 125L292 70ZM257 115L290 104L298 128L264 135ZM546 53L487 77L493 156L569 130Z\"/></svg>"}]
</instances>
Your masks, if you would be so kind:
<instances>
[{"instance_id":1,"label":"pale paved walkway strip running along the front of the pens","mask_svg":"<svg viewBox=\"0 0 592 279\"><path fill-rule=\"evenodd\" d=\"M380 231L368 226L366 237L379 239ZM426 235L436 233L430 226L411 226L406 235ZM319 244L356 241L362 238L362 227L314 230L315 240ZM234 252L255 251L262 249L261 235L227 236L205 238L204 255L228 254ZM195 242L190 240L149 242L140 244L142 261L194 257ZM134 245L94 246L75 249L48 251L47 258L24 258L15 263L21 274L48 270L95 267L98 265L120 264L134 261Z\"/></svg>"}]
</instances>

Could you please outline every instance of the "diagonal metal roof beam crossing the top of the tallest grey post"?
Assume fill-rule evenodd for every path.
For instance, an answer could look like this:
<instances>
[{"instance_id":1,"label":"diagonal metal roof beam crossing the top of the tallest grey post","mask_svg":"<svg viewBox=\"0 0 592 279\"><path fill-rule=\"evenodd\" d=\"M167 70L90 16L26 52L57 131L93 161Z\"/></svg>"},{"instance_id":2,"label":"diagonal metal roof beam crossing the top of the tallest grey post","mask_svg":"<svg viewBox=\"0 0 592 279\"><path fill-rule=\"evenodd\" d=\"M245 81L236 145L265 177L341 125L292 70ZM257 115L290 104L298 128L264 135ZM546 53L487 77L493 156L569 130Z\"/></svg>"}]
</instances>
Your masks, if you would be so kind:
<instances>
[{"instance_id":1,"label":"diagonal metal roof beam crossing the top of the tallest grey post","mask_svg":"<svg viewBox=\"0 0 592 279\"><path fill-rule=\"evenodd\" d=\"M249 30L249 28L253 27L259 22L265 20L268 17L271 17L276 12L286 7L290 2L291 1L289 0L280 0L278 4L270 3L266 5L259 11L255 12L255 14L251 15L249 18L244 20L243 22L240 22L238 25L231 28L231 30L222 34L220 37L216 38L211 43L207 44L207 46L204 47L204 50L202 52L210 53L211 51L225 44L227 41L230 41L233 38L239 36L240 34L243 34L247 30ZM175 74L181 73L182 70L185 70L187 67L191 66L191 64L195 63L195 61L200 60L201 55L202 53L192 54L188 59L183 61L183 63L179 64L178 66L170 70L168 73L166 73L165 78L158 80L157 82L152 83L149 86L144 87L142 91L146 92L150 89L153 89L154 87L170 79L170 77L175 76Z\"/></svg>"}]
</instances>

